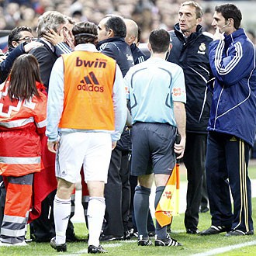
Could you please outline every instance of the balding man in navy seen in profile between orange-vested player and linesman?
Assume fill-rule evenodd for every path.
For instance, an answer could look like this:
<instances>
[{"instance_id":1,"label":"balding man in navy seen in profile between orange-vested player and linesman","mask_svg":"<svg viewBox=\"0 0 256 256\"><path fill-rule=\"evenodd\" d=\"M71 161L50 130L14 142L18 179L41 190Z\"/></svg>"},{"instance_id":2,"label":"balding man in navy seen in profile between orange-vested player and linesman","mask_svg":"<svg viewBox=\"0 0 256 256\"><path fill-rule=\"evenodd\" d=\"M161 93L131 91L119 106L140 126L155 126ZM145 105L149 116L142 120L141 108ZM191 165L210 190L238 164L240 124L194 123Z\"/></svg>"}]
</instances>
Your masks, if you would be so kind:
<instances>
[{"instance_id":1,"label":"balding man in navy seen in profile between orange-vested player and linesman","mask_svg":"<svg viewBox=\"0 0 256 256\"><path fill-rule=\"evenodd\" d=\"M125 42L126 24L119 16L106 16L99 22L97 49L112 57L119 65L123 77L134 65L129 45ZM100 240L130 239L128 217L130 209L130 134L124 130L116 148L112 150L108 183L105 186L106 227Z\"/></svg>"}]
</instances>

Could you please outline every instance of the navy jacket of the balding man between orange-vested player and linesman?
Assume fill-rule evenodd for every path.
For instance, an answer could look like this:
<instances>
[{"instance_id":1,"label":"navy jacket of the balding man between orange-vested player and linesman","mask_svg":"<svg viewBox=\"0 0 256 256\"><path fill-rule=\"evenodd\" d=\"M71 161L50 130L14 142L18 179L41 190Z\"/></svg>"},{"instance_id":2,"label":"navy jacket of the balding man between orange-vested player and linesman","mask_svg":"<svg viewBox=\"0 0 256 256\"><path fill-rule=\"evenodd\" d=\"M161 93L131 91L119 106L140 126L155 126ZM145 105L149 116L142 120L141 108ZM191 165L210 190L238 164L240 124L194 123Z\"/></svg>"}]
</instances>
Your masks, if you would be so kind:
<instances>
[{"instance_id":1,"label":"navy jacket of the balding man between orange-vested player and linesman","mask_svg":"<svg viewBox=\"0 0 256 256\"><path fill-rule=\"evenodd\" d=\"M127 71L129 71L130 67L133 67L133 55L129 45L123 37L114 36L102 40L96 47L102 54L106 54L116 60L116 63L122 71L123 77L126 75ZM123 130L120 140L118 140L116 144L116 148L119 150L131 150L130 133L125 129Z\"/></svg>"}]
</instances>

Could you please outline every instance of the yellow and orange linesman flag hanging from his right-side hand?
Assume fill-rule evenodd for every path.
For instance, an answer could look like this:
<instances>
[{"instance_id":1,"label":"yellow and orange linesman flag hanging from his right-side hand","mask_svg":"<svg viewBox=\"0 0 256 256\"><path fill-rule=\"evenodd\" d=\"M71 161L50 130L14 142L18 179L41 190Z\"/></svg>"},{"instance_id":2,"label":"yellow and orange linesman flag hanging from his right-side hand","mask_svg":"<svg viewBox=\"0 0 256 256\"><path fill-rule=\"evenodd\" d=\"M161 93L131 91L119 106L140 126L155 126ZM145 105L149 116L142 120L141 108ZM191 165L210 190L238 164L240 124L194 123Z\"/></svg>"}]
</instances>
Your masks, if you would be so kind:
<instances>
[{"instance_id":1,"label":"yellow and orange linesman flag hanging from his right-side hand","mask_svg":"<svg viewBox=\"0 0 256 256\"><path fill-rule=\"evenodd\" d=\"M178 138L176 139L176 143ZM173 216L178 216L179 209L179 159L165 185L164 192L157 204L155 217L161 227L171 223Z\"/></svg>"}]
</instances>

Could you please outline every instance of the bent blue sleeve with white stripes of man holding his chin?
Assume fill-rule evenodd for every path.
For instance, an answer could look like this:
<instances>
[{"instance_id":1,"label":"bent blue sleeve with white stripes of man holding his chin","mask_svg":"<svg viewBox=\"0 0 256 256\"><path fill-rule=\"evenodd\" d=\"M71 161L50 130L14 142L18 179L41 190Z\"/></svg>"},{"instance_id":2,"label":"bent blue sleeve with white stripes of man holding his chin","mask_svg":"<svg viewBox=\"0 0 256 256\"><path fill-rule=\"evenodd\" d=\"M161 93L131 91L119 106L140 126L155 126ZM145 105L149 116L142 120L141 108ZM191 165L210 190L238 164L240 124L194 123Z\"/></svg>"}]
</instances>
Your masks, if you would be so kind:
<instances>
[{"instance_id":1,"label":"bent blue sleeve with white stripes of man holding his chin","mask_svg":"<svg viewBox=\"0 0 256 256\"><path fill-rule=\"evenodd\" d=\"M237 41L227 50L223 40L209 44L209 64L213 75L225 86L236 85L251 73L254 65L254 52L251 43Z\"/></svg>"}]
</instances>

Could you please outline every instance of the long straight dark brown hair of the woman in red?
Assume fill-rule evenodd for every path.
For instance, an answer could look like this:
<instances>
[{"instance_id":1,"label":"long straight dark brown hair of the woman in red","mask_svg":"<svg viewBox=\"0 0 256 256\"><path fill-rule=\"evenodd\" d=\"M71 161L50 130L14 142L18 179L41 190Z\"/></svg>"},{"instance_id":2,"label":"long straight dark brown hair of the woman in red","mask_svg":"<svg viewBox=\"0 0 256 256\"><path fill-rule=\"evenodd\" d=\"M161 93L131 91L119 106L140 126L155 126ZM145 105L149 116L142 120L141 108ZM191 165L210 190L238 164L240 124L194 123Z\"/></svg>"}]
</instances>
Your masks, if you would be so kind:
<instances>
[{"instance_id":1,"label":"long straight dark brown hair of the woman in red","mask_svg":"<svg viewBox=\"0 0 256 256\"><path fill-rule=\"evenodd\" d=\"M36 81L40 79L39 64L32 54L22 54L16 58L10 73L8 88L9 98L29 100L33 95L40 98L36 88Z\"/></svg>"}]
</instances>

